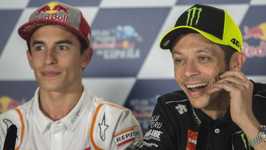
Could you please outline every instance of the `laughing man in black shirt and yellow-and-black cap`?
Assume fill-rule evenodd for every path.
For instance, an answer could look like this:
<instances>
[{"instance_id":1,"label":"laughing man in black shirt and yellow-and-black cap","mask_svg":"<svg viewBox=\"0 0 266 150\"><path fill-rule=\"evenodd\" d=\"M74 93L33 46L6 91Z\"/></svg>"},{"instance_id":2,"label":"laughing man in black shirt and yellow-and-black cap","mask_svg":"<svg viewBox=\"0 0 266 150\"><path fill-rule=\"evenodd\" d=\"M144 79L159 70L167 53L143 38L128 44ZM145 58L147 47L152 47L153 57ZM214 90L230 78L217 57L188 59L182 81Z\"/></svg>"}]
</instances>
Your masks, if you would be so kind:
<instances>
[{"instance_id":1,"label":"laughing man in black shirt and yellow-and-black cap","mask_svg":"<svg viewBox=\"0 0 266 150\"><path fill-rule=\"evenodd\" d=\"M266 85L240 71L242 35L226 11L194 5L160 47L182 91L158 98L140 149L266 149Z\"/></svg>"}]
</instances>

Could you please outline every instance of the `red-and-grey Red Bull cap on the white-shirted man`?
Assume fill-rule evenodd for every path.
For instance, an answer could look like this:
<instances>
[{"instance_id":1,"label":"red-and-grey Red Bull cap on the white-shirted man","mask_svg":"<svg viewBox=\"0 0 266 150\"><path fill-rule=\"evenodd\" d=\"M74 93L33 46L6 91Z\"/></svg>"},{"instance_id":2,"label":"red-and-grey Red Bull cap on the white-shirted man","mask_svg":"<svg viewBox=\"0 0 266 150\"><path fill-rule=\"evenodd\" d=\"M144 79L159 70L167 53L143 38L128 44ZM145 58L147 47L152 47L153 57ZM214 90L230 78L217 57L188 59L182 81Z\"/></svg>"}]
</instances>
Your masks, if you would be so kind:
<instances>
[{"instance_id":1,"label":"red-and-grey Red Bull cap on the white-shirted man","mask_svg":"<svg viewBox=\"0 0 266 150\"><path fill-rule=\"evenodd\" d=\"M22 25L18 32L27 42L32 33L40 26L61 25L82 37L90 46L91 28L79 9L60 3L47 3L34 11L29 22Z\"/></svg>"}]
</instances>

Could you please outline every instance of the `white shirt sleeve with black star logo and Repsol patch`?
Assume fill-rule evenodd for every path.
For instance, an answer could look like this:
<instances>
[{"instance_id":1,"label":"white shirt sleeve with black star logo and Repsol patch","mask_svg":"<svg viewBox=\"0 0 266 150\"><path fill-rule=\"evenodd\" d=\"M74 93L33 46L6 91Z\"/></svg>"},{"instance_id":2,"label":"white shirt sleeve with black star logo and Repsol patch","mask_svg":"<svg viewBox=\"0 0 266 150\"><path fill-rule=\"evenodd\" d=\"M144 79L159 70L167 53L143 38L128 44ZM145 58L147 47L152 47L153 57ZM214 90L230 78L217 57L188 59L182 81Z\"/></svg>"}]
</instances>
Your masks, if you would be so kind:
<instances>
[{"instance_id":1,"label":"white shirt sleeve with black star logo and Repsol patch","mask_svg":"<svg viewBox=\"0 0 266 150\"><path fill-rule=\"evenodd\" d=\"M124 149L130 143L139 145L142 142L141 127L129 109L103 100L95 103L97 107L90 128L94 146Z\"/></svg>"}]
</instances>

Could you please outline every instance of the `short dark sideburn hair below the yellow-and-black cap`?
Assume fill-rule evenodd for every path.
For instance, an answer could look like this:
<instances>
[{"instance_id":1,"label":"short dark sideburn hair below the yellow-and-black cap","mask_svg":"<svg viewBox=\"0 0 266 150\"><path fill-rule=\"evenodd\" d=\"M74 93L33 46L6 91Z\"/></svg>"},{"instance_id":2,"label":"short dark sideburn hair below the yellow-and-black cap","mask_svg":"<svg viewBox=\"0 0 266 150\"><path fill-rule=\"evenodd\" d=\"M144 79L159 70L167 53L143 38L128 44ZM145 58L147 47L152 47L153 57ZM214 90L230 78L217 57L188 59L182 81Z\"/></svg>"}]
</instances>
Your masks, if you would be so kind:
<instances>
[{"instance_id":1,"label":"short dark sideburn hair below the yellow-and-black cap","mask_svg":"<svg viewBox=\"0 0 266 150\"><path fill-rule=\"evenodd\" d=\"M232 55L237 52L236 49L234 49L233 47L229 46L229 45L222 45L222 44L218 44L220 46L220 48L224 51L224 60L225 60L225 70L230 70L230 59L232 57Z\"/></svg>"}]
</instances>

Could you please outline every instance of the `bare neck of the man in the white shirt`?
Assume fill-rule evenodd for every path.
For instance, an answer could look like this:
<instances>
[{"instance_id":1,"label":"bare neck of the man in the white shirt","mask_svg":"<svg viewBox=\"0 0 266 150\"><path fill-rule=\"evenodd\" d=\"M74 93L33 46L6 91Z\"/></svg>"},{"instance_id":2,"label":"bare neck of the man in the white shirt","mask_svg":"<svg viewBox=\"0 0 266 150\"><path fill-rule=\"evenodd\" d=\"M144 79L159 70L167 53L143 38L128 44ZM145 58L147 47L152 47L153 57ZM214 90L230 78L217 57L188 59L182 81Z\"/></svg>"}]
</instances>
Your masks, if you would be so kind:
<instances>
[{"instance_id":1,"label":"bare neck of the man in the white shirt","mask_svg":"<svg viewBox=\"0 0 266 150\"><path fill-rule=\"evenodd\" d=\"M82 85L70 89L71 92L51 92L40 88L39 90L39 107L41 112L56 121L65 117L78 103L83 88Z\"/></svg>"}]
</instances>

